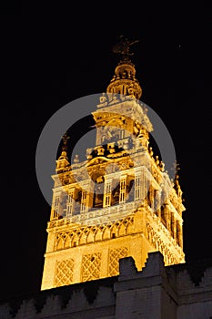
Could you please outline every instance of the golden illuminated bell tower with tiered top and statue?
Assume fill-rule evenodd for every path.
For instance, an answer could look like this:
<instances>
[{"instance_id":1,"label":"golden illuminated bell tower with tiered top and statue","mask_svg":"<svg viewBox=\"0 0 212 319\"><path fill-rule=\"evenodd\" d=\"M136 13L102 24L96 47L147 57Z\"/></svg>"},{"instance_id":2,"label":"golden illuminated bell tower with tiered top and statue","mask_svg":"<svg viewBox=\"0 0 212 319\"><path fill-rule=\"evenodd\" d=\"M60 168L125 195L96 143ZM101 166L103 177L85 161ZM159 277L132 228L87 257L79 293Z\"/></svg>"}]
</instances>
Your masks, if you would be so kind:
<instances>
[{"instance_id":1,"label":"golden illuminated bell tower with tiered top and statue","mask_svg":"<svg viewBox=\"0 0 212 319\"><path fill-rule=\"evenodd\" d=\"M118 274L120 258L145 266L148 252L166 265L185 262L182 191L149 145L153 130L127 39L121 60L92 113L96 145L86 161L67 157L67 139L56 160L42 290ZM80 182L79 182L80 180Z\"/></svg>"}]
</instances>

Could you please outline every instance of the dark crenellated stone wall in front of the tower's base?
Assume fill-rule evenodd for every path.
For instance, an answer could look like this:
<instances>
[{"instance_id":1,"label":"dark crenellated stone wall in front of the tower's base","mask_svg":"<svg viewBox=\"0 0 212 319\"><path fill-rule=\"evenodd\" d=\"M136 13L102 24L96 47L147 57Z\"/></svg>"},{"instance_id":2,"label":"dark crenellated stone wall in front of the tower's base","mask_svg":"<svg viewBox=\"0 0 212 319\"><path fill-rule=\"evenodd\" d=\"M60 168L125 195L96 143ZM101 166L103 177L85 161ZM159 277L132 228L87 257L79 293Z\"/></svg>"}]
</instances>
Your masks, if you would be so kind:
<instances>
[{"instance_id":1,"label":"dark crenellated stone wall in front of the tower's base","mask_svg":"<svg viewBox=\"0 0 212 319\"><path fill-rule=\"evenodd\" d=\"M126 256L125 249L116 253L119 255L119 275L85 283L61 284L58 288L2 301L0 319L87 318L88 314L91 318L104 316L110 319L133 318L135 314L148 317L150 314L159 319L164 309L165 318L190 319L194 314L198 318L211 317L211 260L165 266L161 252L149 252L142 271L138 271L135 260ZM90 257L94 258L88 254L84 262L92 272ZM93 268L97 269L97 252L95 257ZM113 262L116 257L111 253L111 264ZM58 269L62 266L66 268L65 264L57 263ZM191 269L196 269L198 281L193 279ZM60 280L65 281L65 278Z\"/></svg>"}]
</instances>

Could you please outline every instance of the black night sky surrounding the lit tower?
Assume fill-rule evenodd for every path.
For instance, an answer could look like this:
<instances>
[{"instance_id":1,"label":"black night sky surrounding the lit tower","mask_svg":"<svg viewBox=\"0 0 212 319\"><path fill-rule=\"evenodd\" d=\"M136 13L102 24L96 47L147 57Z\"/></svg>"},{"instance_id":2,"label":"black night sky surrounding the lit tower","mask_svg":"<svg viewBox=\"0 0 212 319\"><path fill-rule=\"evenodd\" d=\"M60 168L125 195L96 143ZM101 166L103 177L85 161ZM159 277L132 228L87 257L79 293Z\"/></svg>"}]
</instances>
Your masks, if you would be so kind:
<instances>
[{"instance_id":1,"label":"black night sky surrounding the lit tower","mask_svg":"<svg viewBox=\"0 0 212 319\"><path fill-rule=\"evenodd\" d=\"M211 7L140 5L55 6L43 15L23 5L1 15L1 299L40 290L50 216L35 174L42 129L70 101L106 91L120 35L139 40L132 60L141 100L175 145L186 261L212 257Z\"/></svg>"}]
</instances>

